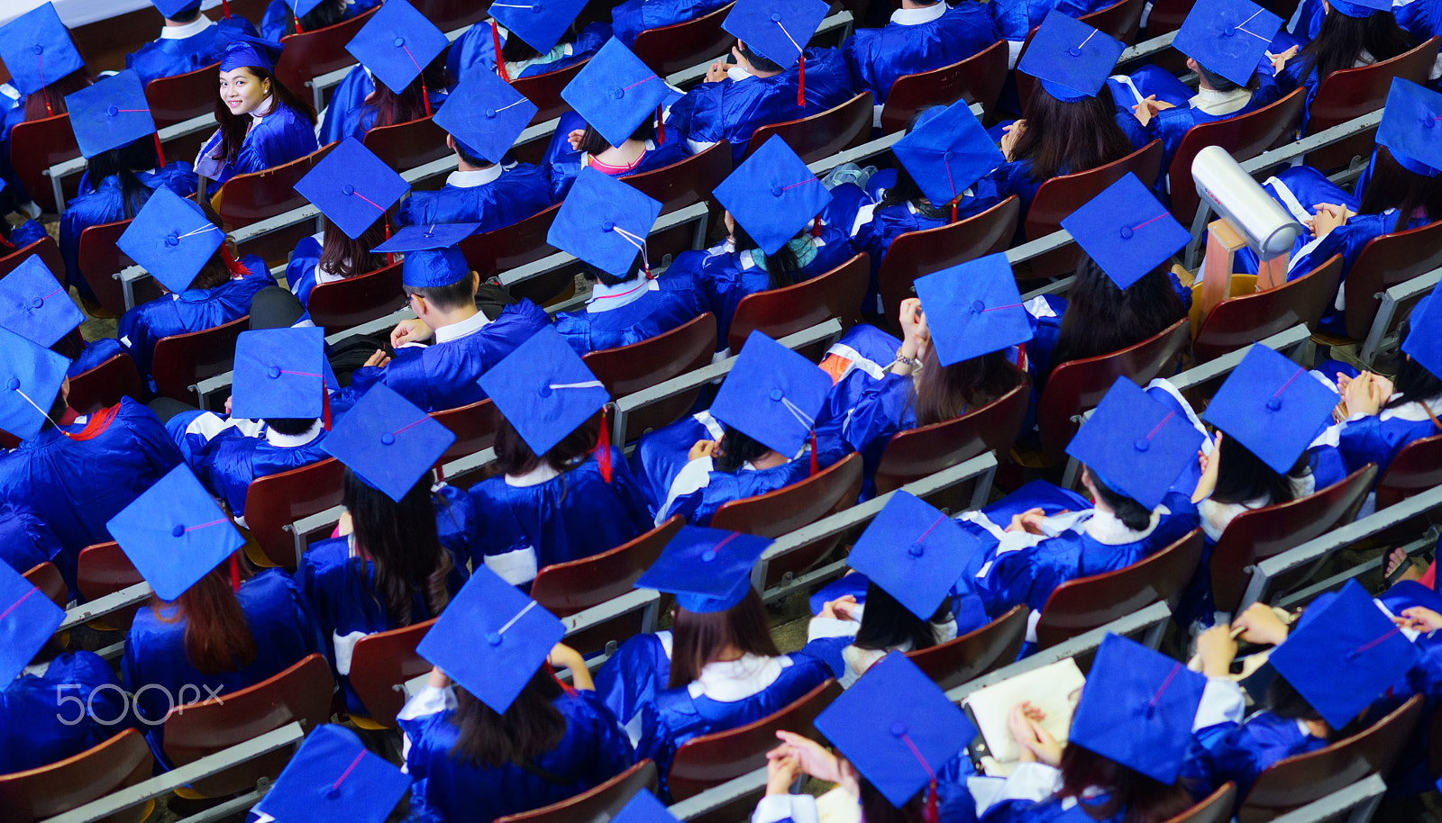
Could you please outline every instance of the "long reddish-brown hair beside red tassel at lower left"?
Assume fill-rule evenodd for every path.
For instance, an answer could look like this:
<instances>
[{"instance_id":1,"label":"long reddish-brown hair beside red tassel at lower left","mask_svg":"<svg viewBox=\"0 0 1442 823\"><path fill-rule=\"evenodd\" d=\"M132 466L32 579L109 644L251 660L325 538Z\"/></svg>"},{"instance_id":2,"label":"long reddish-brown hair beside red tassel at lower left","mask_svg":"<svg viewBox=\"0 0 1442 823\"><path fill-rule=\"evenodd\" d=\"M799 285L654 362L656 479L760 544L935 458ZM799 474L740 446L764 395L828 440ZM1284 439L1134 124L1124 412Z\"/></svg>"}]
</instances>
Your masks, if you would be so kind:
<instances>
[{"instance_id":1,"label":"long reddish-brown hair beside red tassel at lower left","mask_svg":"<svg viewBox=\"0 0 1442 823\"><path fill-rule=\"evenodd\" d=\"M232 555L241 579L251 577L244 553ZM153 604L162 602L159 597ZM255 636L245 623L245 610L231 590L231 564L222 562L174 601L176 611L162 623L185 621L185 659L202 675L239 672L255 662ZM153 605L154 608L154 605Z\"/></svg>"}]
</instances>

